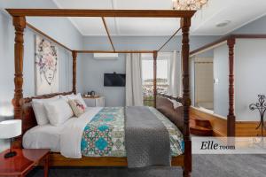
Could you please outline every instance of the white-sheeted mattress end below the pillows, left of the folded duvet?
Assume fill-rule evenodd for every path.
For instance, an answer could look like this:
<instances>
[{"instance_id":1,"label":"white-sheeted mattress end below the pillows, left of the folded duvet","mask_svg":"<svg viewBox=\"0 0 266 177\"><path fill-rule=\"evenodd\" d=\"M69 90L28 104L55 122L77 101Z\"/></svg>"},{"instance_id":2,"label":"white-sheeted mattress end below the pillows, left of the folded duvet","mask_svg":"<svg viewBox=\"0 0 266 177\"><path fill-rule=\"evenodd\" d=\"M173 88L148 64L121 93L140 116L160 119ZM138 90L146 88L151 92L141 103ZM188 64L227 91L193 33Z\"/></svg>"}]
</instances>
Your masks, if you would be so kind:
<instances>
[{"instance_id":1,"label":"white-sheeted mattress end below the pillows, left of the folded duvet","mask_svg":"<svg viewBox=\"0 0 266 177\"><path fill-rule=\"evenodd\" d=\"M61 131L70 120L68 119L59 127L47 124L30 128L23 135L23 147L26 149L50 149L52 152L59 152Z\"/></svg>"}]
</instances>

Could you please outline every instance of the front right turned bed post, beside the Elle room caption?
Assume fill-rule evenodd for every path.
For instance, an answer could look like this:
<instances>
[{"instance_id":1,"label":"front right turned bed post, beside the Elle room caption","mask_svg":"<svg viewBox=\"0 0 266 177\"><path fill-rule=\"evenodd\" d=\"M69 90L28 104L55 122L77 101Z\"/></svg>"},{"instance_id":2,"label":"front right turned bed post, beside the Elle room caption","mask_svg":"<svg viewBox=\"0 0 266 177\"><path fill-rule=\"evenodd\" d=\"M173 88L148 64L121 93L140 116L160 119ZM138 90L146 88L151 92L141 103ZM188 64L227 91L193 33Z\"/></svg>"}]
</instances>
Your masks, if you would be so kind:
<instances>
[{"instance_id":1,"label":"front right turned bed post, beside the Elle room caption","mask_svg":"<svg viewBox=\"0 0 266 177\"><path fill-rule=\"evenodd\" d=\"M191 18L182 18L180 21L182 27L182 59L183 59L183 105L184 105L184 177L190 177L192 173L192 140L190 135L190 87L189 87L189 55L190 40L189 31L191 27Z\"/></svg>"}]
</instances>

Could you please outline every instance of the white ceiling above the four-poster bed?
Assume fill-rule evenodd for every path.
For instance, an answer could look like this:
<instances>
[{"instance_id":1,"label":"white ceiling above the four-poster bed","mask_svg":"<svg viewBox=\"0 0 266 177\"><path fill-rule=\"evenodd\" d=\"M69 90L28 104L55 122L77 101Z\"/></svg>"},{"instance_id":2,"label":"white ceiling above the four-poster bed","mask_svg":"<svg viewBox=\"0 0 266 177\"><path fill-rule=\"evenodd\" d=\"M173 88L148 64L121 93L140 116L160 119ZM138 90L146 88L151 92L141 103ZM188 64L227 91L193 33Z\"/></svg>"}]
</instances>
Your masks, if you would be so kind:
<instances>
[{"instance_id":1,"label":"white ceiling above the four-poster bed","mask_svg":"<svg viewBox=\"0 0 266 177\"><path fill-rule=\"evenodd\" d=\"M53 0L65 9L172 9L172 0ZM192 35L226 35L266 14L266 0L209 0L192 19ZM106 35L100 18L69 18L82 35ZM217 23L230 20L226 27ZM106 18L111 35L172 35L179 19Z\"/></svg>"}]
</instances>

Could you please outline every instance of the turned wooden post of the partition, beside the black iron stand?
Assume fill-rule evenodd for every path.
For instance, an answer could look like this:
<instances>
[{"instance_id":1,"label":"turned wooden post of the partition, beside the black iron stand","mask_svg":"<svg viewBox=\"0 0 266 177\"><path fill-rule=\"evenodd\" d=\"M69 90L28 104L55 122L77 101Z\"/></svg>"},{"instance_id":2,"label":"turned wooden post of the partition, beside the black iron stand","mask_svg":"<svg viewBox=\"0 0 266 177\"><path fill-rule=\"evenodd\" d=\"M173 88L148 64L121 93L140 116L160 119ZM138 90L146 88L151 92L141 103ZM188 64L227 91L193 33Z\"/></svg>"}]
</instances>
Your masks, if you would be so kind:
<instances>
[{"instance_id":1,"label":"turned wooden post of the partition, beside the black iron stand","mask_svg":"<svg viewBox=\"0 0 266 177\"><path fill-rule=\"evenodd\" d=\"M235 136L236 116L234 110L234 46L236 39L231 37L227 40L229 48L229 113L227 116L227 136Z\"/></svg>"}]
</instances>

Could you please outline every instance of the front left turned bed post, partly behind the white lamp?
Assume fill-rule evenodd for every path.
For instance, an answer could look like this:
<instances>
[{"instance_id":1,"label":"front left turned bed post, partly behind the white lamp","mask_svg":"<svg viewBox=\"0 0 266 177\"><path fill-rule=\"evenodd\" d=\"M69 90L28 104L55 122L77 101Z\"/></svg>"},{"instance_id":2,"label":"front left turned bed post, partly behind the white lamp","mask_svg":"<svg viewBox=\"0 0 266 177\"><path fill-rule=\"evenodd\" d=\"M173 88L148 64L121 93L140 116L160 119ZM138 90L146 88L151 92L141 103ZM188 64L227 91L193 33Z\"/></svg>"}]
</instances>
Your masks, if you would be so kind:
<instances>
[{"instance_id":1,"label":"front left turned bed post, partly behind the white lamp","mask_svg":"<svg viewBox=\"0 0 266 177\"><path fill-rule=\"evenodd\" d=\"M22 105L20 104L20 99L23 98L23 55L24 55L24 45L23 45L23 33L26 27L26 18L14 16L13 26L15 28L15 45L14 45L14 97L12 99L12 104L14 106L14 119L22 119ZM23 121L23 120L22 120ZM22 124L23 125L23 124ZM23 126L22 126L23 129ZM16 144L12 144L14 147L21 147L22 138L21 136L16 138Z\"/></svg>"}]
</instances>

